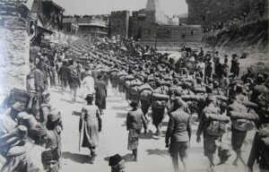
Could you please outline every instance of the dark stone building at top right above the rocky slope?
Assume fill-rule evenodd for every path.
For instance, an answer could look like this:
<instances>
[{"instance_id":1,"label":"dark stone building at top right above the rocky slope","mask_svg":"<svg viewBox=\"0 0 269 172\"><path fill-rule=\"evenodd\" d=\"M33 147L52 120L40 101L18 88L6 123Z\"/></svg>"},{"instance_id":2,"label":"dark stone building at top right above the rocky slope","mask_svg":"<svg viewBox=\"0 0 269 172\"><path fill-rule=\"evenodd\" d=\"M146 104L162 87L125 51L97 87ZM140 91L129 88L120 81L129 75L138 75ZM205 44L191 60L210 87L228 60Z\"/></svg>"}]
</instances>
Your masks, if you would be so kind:
<instances>
[{"instance_id":1,"label":"dark stone building at top right above the rocky slope","mask_svg":"<svg viewBox=\"0 0 269 172\"><path fill-rule=\"evenodd\" d=\"M239 19L244 13L268 16L268 0L187 0L187 4L188 24L200 24L203 29Z\"/></svg>"}]
</instances>

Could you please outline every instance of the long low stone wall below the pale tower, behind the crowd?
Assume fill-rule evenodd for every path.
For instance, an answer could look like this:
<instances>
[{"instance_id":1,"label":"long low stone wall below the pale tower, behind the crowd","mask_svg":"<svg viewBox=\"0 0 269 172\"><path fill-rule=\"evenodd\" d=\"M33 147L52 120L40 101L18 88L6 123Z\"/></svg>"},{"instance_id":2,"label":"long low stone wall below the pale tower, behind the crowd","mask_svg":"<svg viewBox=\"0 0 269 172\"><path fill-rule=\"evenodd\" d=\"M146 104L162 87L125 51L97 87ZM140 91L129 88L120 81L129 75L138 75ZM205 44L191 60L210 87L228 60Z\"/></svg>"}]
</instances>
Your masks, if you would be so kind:
<instances>
[{"instance_id":1,"label":"long low stone wall below the pale tower, behind the crowd","mask_svg":"<svg viewBox=\"0 0 269 172\"><path fill-rule=\"evenodd\" d=\"M151 24L142 27L142 41L201 43L202 28L197 25L174 26Z\"/></svg>"}]
</instances>

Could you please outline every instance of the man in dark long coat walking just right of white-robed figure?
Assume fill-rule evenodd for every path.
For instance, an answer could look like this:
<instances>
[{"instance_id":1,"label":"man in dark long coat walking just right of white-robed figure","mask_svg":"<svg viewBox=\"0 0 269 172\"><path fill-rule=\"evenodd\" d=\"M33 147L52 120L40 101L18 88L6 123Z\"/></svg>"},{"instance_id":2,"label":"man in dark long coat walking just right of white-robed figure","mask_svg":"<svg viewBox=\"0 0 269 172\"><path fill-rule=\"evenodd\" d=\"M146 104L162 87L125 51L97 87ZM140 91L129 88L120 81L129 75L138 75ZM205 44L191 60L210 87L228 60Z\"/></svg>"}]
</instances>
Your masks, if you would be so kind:
<instances>
[{"instance_id":1,"label":"man in dark long coat walking just right of white-robed figure","mask_svg":"<svg viewBox=\"0 0 269 172\"><path fill-rule=\"evenodd\" d=\"M94 83L94 89L96 91L96 99L95 99L95 105L99 107L100 114L103 114L103 109L106 109L107 107L107 85L102 80L102 75L97 76L97 80Z\"/></svg>"}]
</instances>

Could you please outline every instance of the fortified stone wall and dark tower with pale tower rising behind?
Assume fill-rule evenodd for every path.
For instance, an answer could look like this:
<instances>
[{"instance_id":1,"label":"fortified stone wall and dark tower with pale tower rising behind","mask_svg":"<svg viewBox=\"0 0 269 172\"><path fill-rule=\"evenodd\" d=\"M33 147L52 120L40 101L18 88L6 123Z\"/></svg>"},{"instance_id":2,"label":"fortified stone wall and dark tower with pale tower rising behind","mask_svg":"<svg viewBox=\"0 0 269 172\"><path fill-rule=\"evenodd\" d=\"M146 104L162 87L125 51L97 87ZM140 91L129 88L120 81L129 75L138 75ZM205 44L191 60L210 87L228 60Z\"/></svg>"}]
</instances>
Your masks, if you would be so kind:
<instances>
[{"instance_id":1,"label":"fortified stone wall and dark tower with pale tower rising behind","mask_svg":"<svg viewBox=\"0 0 269 172\"><path fill-rule=\"evenodd\" d=\"M159 42L158 47L188 46L199 47L202 41L200 25L184 25L179 16L169 19L161 10L159 0L148 0L145 9L133 12L131 18L131 36L152 45Z\"/></svg>"}]
</instances>

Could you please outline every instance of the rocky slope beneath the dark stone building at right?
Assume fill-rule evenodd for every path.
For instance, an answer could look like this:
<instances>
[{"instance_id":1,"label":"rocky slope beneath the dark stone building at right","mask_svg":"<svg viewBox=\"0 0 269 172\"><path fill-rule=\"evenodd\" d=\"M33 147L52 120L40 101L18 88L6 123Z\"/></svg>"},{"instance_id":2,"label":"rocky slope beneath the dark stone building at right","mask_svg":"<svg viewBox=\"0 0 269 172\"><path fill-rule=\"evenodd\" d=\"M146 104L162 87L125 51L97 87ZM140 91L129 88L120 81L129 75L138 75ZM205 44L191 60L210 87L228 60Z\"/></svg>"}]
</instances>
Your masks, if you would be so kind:
<instances>
[{"instance_id":1,"label":"rocky slope beneath the dark stone building at right","mask_svg":"<svg viewBox=\"0 0 269 172\"><path fill-rule=\"evenodd\" d=\"M247 53L247 59L242 59L240 64L269 71L268 20L205 33L203 47L206 51L219 51L221 56Z\"/></svg>"}]
</instances>

